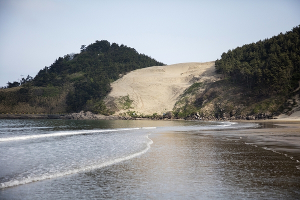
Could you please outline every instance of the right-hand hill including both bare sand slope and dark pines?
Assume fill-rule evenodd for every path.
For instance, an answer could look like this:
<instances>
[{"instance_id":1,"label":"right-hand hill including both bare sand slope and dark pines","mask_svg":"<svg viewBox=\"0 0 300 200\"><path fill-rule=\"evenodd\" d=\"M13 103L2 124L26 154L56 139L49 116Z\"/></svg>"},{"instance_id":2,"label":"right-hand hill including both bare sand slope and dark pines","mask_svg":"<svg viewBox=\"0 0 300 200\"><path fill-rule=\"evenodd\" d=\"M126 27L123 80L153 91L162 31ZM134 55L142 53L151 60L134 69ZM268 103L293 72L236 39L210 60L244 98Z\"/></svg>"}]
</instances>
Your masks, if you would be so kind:
<instances>
[{"instance_id":1,"label":"right-hand hill including both bare sand slope and dark pines","mask_svg":"<svg viewBox=\"0 0 300 200\"><path fill-rule=\"evenodd\" d=\"M131 116L168 112L188 119L267 119L293 114L300 110L299 33L296 26L228 50L215 62L132 71L111 84L105 102L117 114Z\"/></svg>"}]
</instances>

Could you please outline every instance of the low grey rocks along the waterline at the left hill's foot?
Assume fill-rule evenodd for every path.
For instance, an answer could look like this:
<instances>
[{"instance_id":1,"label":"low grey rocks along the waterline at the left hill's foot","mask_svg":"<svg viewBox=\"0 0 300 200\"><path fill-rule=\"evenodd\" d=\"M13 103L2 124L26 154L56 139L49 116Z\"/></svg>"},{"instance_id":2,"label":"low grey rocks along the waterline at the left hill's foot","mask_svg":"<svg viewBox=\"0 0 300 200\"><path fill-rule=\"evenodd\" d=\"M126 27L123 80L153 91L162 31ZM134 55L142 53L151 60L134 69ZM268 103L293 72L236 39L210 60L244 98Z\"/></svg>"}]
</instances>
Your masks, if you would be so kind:
<instances>
[{"instance_id":1,"label":"low grey rocks along the waterline at the left hill's foot","mask_svg":"<svg viewBox=\"0 0 300 200\"><path fill-rule=\"evenodd\" d=\"M126 120L131 119L130 116L113 116L113 115L102 115L102 114L95 114L90 111L84 112L73 112L70 114L66 114L60 117L61 119L103 119L103 120Z\"/></svg>"}]
</instances>

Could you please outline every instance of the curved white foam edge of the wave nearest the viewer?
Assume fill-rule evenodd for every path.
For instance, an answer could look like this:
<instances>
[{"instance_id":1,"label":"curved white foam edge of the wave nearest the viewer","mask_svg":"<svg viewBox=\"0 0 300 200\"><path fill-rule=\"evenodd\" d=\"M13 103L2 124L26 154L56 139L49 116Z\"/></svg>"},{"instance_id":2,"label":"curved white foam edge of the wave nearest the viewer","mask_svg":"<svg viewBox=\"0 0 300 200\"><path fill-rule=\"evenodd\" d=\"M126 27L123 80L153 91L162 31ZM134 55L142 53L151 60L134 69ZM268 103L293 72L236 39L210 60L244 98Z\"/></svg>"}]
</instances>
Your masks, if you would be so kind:
<instances>
[{"instance_id":1,"label":"curved white foam edge of the wave nearest the viewer","mask_svg":"<svg viewBox=\"0 0 300 200\"><path fill-rule=\"evenodd\" d=\"M155 128L155 127L147 127L147 129L148 128ZM140 129L140 128L128 128L128 129ZM6 187L13 187L13 186L21 185L21 184L26 184L26 183L30 183L30 182L34 182L34 181L40 181L40 180L45 180L45 179L50 179L50 178L57 178L57 177L70 175L70 174L74 174L74 173L90 171L90 170L94 170L97 168L105 167L105 166L108 166L111 164L115 164L118 162L122 162L122 161L125 161L128 159L131 159L133 157L136 157L136 156L139 156L139 155L145 153L150 148L150 145L153 143L153 141L148 137L148 135L146 135L146 138L148 139L148 142L146 143L146 147L139 152L135 152L133 154L119 157L116 159L108 160L108 161L105 161L102 163L92 164L92 165L88 165L88 166L82 166L82 167L79 167L76 169L69 169L69 170L60 171L60 172L56 172L56 173L44 173L42 175L37 175L37 176L32 176L32 177L27 176L27 177L23 177L20 179L13 179L13 180L9 180L6 182L1 182L0 189L6 188Z\"/></svg>"}]
</instances>

